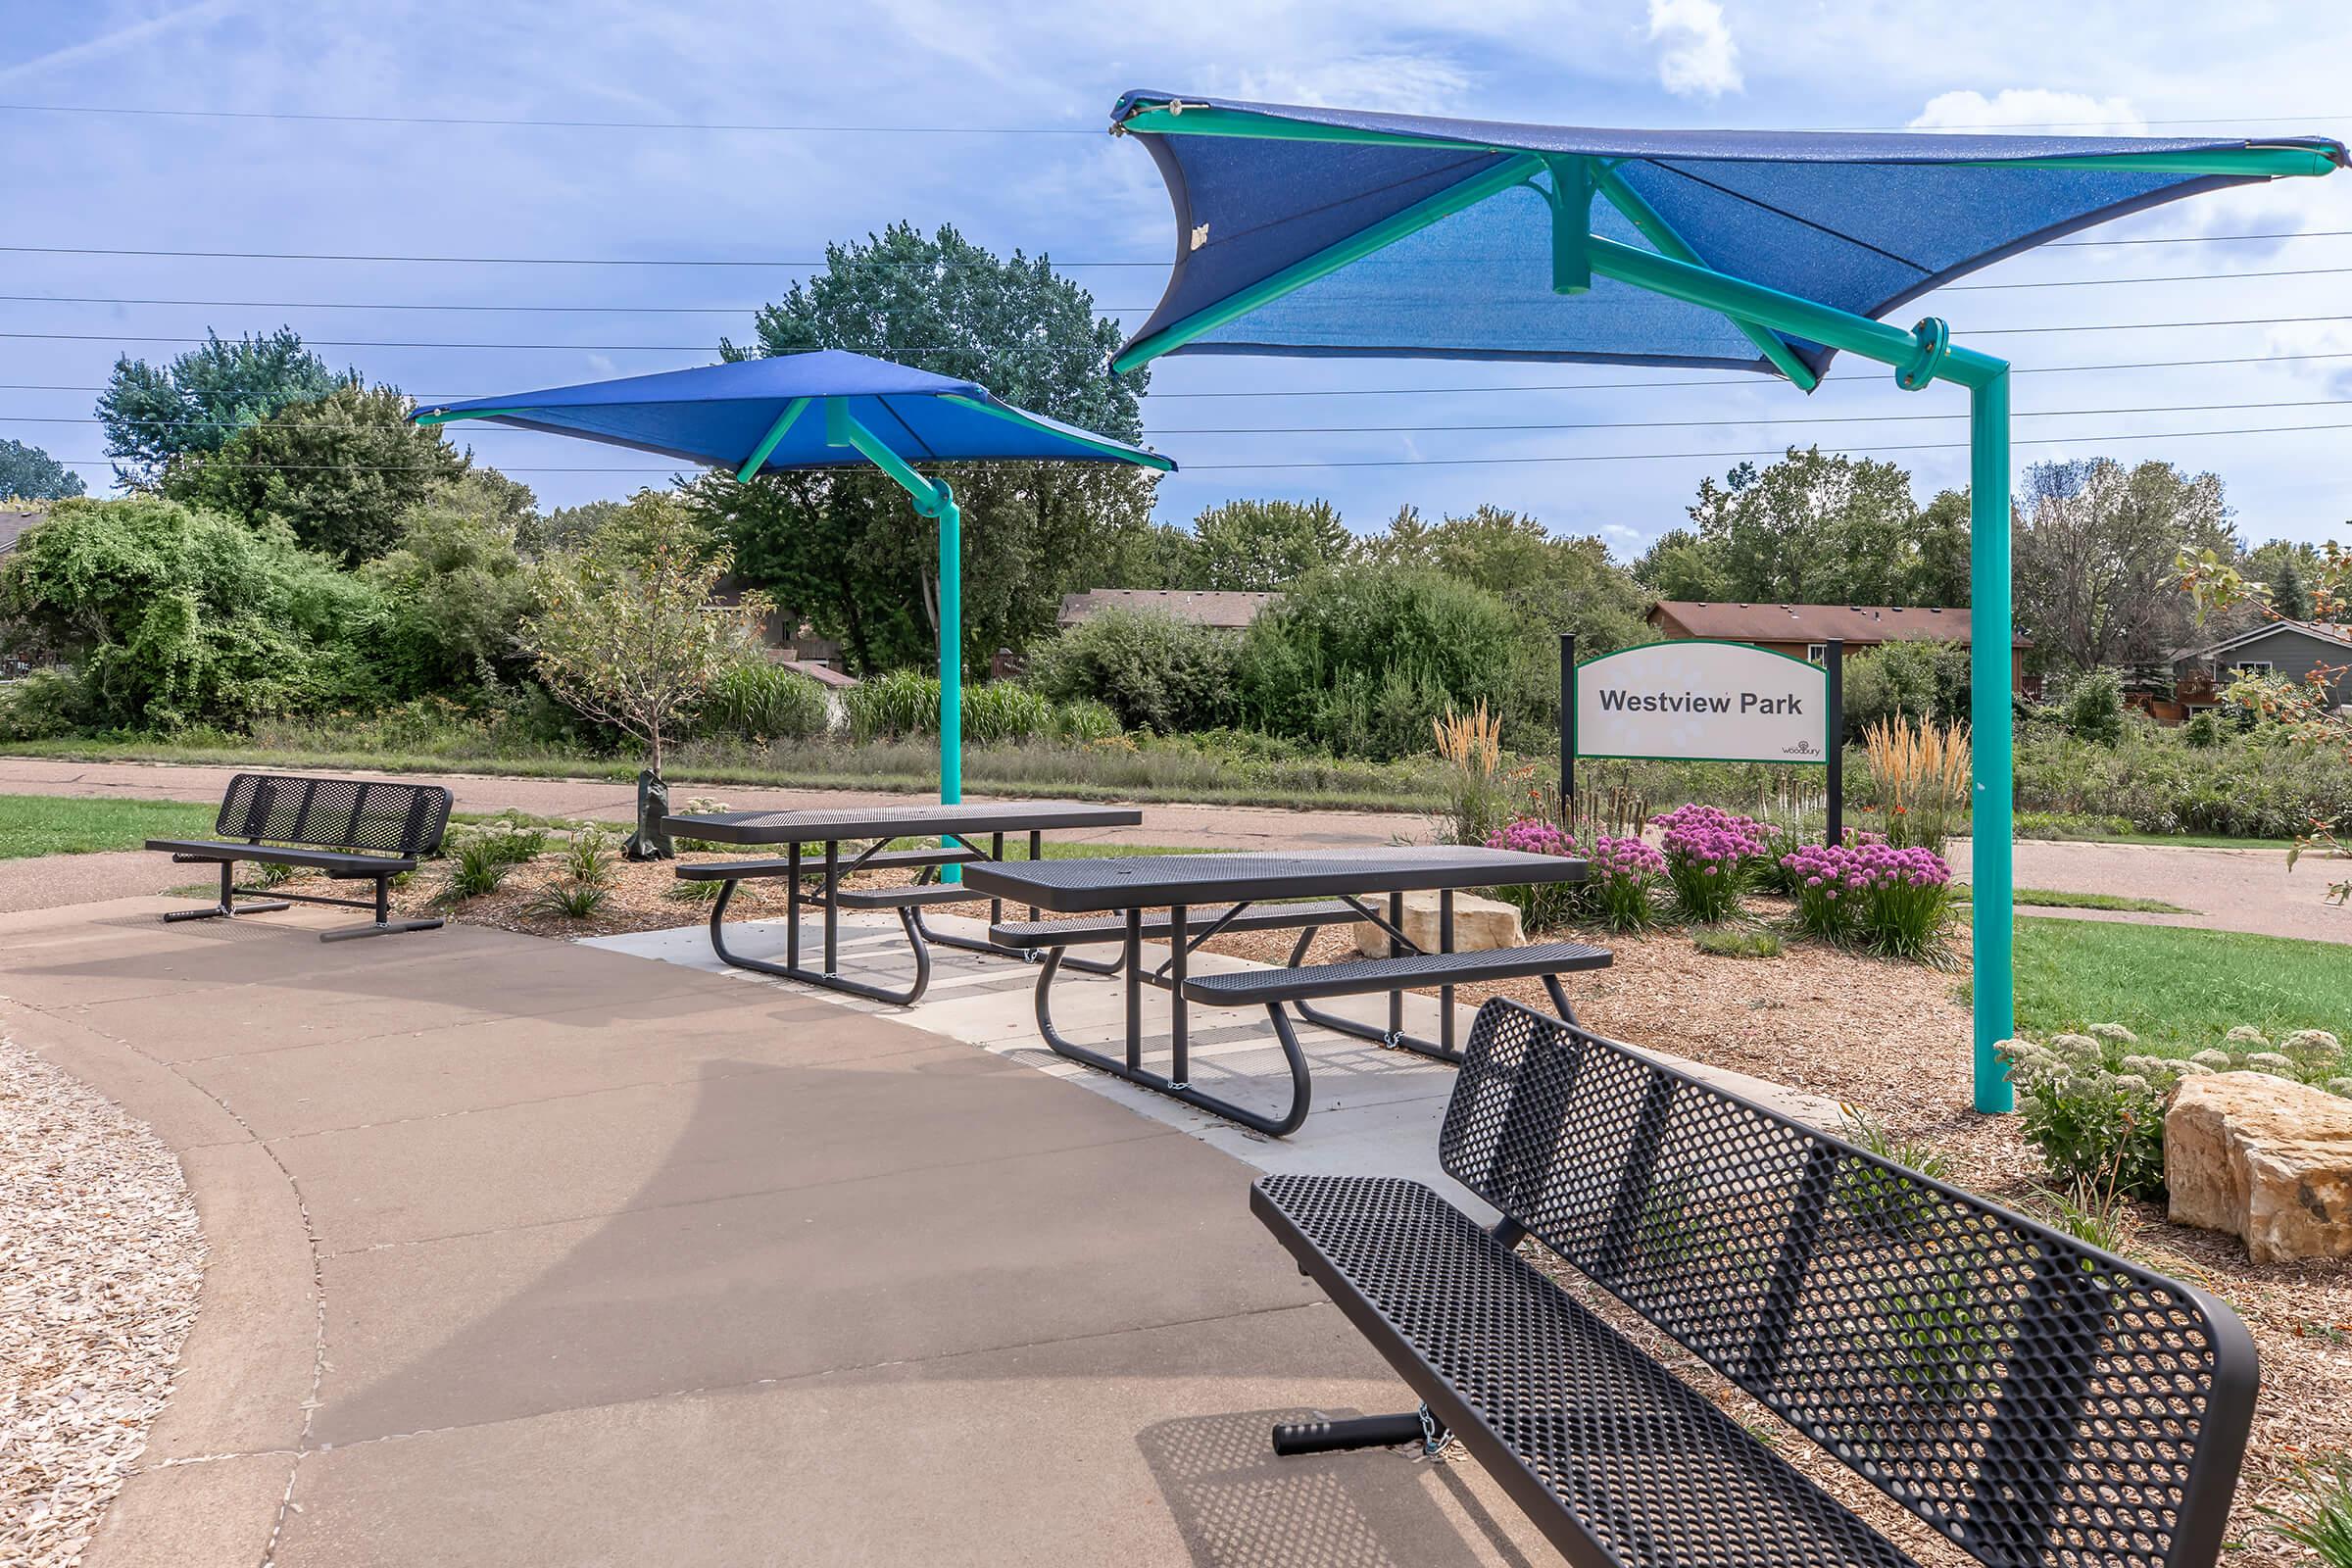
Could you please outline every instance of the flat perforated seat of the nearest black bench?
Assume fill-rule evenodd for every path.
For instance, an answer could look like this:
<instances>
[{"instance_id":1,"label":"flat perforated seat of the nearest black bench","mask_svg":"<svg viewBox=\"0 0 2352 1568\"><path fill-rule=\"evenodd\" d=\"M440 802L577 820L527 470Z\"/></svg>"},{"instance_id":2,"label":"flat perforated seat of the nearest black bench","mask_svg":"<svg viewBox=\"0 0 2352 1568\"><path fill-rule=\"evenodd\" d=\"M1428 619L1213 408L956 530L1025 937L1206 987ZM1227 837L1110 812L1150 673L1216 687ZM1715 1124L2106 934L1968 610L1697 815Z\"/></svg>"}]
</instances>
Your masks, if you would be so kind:
<instances>
[{"instance_id":1,"label":"flat perforated seat of the nearest black bench","mask_svg":"<svg viewBox=\"0 0 2352 1568\"><path fill-rule=\"evenodd\" d=\"M1268 1175L1249 1206L1496 1479L1618 1561L1912 1566L1421 1182Z\"/></svg>"}]
</instances>

